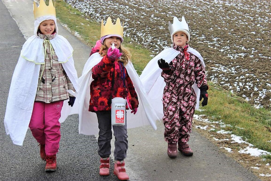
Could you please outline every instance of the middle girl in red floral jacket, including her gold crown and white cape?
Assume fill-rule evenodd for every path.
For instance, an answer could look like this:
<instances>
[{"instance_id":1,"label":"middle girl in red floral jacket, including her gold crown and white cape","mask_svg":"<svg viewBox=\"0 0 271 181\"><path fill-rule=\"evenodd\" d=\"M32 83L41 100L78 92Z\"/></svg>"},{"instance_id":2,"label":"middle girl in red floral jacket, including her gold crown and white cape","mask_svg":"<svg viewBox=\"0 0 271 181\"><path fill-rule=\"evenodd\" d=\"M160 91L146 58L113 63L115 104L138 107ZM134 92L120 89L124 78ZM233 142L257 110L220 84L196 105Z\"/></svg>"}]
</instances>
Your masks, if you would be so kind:
<instances>
[{"instance_id":1,"label":"middle girl in red floral jacket, including her gold crown and white cape","mask_svg":"<svg viewBox=\"0 0 271 181\"><path fill-rule=\"evenodd\" d=\"M79 77L80 89L75 94L73 109L79 104L80 134L99 134L98 154L101 176L109 175L113 128L114 174L120 180L128 180L124 163L128 149L127 127L151 124L156 129L155 122L158 117L146 99L142 83L130 60L131 54L122 43L123 24L121 25L120 19L117 18L116 23L113 24L108 17L105 25L102 20L101 40L96 42L84 66L82 76ZM111 103L114 98L124 101L123 107L127 111L127 119L125 118L127 121L118 126L111 124ZM112 113L114 114L117 113ZM125 112L122 115L125 115Z\"/></svg>"}]
</instances>

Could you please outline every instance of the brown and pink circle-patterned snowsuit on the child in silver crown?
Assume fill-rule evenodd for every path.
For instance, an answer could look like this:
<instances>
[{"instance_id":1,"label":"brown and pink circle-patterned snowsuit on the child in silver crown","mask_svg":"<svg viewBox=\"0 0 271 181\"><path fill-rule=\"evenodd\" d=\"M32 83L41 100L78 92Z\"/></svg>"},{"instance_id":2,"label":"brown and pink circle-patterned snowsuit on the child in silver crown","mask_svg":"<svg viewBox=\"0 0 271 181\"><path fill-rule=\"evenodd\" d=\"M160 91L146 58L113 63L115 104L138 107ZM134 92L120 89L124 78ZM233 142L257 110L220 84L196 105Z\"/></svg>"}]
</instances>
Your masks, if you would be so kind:
<instances>
[{"instance_id":1,"label":"brown and pink circle-patterned snowsuit on the child in silver crown","mask_svg":"<svg viewBox=\"0 0 271 181\"><path fill-rule=\"evenodd\" d=\"M192 119L196 106L196 94L192 85L207 85L205 68L198 57L185 48L173 44L181 53L170 63L171 71L161 76L166 82L163 93L164 137L168 143L186 143L191 133Z\"/></svg>"}]
</instances>

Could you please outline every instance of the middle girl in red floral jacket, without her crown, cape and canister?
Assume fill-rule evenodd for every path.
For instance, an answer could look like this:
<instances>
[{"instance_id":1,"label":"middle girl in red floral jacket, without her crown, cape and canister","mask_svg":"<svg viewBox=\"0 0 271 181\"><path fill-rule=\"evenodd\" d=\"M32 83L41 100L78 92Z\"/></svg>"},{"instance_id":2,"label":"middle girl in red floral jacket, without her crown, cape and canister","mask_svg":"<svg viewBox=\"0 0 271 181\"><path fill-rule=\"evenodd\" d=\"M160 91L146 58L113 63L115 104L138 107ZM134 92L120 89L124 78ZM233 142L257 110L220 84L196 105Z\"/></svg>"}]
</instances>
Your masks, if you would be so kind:
<instances>
[{"instance_id":1,"label":"middle girl in red floral jacket, without her crown, cape and canister","mask_svg":"<svg viewBox=\"0 0 271 181\"><path fill-rule=\"evenodd\" d=\"M98 118L100 130L98 154L101 157L100 175L109 175L111 127L113 127L115 136L114 174L120 180L128 180L129 177L124 168L124 158L126 158L128 148L127 124L124 126L111 126L111 101L114 97L126 99L126 109L131 108L131 112L134 114L138 108L137 93L125 68L125 65L130 61L131 54L121 45L123 42L122 34L122 32L112 32L101 37L102 46L99 54L103 58L92 68L93 81L90 85L89 111L95 112ZM114 49L112 49L113 44Z\"/></svg>"}]
</instances>

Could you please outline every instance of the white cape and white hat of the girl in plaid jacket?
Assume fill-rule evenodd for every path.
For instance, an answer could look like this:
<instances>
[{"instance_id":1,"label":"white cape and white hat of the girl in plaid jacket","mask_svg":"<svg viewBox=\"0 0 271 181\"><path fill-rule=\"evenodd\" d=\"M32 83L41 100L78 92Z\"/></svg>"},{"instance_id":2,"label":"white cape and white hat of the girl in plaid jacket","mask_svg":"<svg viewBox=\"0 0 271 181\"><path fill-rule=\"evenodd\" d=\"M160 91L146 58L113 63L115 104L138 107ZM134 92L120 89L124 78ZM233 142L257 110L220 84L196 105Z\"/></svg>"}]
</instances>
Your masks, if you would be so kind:
<instances>
[{"instance_id":1,"label":"white cape and white hat of the girl in plaid jacket","mask_svg":"<svg viewBox=\"0 0 271 181\"><path fill-rule=\"evenodd\" d=\"M54 20L56 24L55 17L44 16L35 20L35 29L37 30L42 21L49 19ZM59 63L62 63L67 76L75 90L78 91L78 77L72 57L72 46L63 36L57 35L57 26L55 38L49 41L56 52ZM37 92L41 64L45 64L43 39L37 36L36 31L35 35L28 38L22 46L21 55L15 67L9 88L4 124L6 133L10 135L12 142L16 145L23 144L28 129ZM67 104L67 102L68 100L64 101L64 104ZM63 109L62 111L67 112ZM66 115L63 114L61 116Z\"/></svg>"}]
</instances>

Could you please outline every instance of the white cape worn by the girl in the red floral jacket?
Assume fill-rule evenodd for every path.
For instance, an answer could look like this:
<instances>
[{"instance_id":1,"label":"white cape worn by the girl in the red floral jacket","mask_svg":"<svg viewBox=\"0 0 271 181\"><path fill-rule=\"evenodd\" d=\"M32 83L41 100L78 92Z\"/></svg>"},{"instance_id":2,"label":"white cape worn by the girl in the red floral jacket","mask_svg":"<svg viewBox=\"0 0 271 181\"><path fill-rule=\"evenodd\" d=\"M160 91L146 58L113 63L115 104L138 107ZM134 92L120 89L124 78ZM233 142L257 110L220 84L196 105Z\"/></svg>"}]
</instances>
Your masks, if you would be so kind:
<instances>
[{"instance_id":1,"label":"white cape worn by the girl in the red floral jacket","mask_svg":"<svg viewBox=\"0 0 271 181\"><path fill-rule=\"evenodd\" d=\"M76 97L72 111L69 114L79 114L79 134L96 135L99 132L96 113L89 112L88 108L90 100L90 84L93 81L91 76L92 68L101 60L102 57L99 53L92 54L84 66L82 76L78 79L78 84L80 86L79 91L76 93L68 91ZM125 68L134 84L139 100L138 110L135 115L130 113L131 110L127 110L127 128L150 124L153 129L156 130L156 121L159 120L159 118L146 98L145 89L138 77L138 74L136 73L132 63L125 65ZM64 106L67 105L63 105L63 107ZM63 119L65 119L65 117L60 119L60 121L64 121Z\"/></svg>"}]
</instances>

